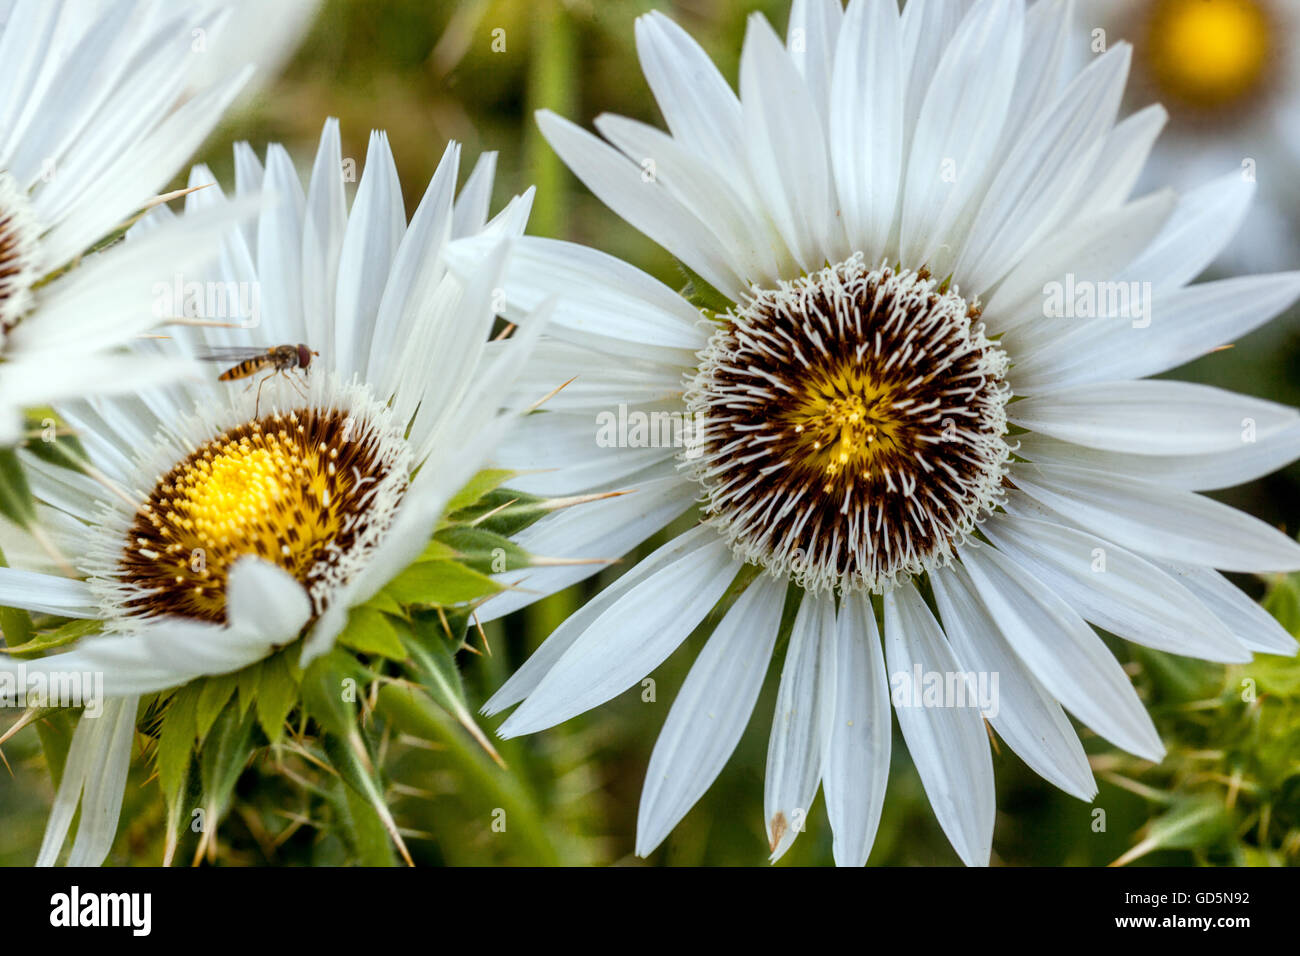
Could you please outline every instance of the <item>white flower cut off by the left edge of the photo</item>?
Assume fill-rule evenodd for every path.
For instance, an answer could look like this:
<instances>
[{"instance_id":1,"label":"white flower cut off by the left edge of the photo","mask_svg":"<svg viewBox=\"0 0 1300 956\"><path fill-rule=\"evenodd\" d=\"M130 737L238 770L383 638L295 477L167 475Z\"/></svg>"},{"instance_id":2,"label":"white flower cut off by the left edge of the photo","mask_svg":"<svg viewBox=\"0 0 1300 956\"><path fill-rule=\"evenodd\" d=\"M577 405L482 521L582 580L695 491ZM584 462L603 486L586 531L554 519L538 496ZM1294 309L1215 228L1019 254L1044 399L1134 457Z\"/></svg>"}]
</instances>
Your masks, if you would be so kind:
<instances>
[{"instance_id":1,"label":"white flower cut off by the left edge of the photo","mask_svg":"<svg viewBox=\"0 0 1300 956\"><path fill-rule=\"evenodd\" d=\"M209 217L83 254L144 207L212 131L251 68L205 69L211 3L17 0L0 5L0 445L23 407L176 378L183 363L118 350L159 323L159 263L217 242ZM247 62L243 60L240 62ZM192 95L190 95L192 94Z\"/></svg>"}]
</instances>

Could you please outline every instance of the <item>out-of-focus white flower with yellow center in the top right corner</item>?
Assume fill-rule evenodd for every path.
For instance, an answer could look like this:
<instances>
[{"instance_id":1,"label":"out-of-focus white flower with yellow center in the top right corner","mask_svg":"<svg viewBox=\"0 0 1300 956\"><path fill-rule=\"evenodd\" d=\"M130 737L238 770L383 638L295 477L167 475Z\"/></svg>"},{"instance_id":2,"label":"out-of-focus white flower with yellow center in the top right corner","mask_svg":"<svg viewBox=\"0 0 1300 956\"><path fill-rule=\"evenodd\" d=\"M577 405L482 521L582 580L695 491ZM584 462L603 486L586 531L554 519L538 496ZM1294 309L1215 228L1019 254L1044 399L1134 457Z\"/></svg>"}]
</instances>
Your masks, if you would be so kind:
<instances>
[{"instance_id":1,"label":"out-of-focus white flower with yellow center in the top right corner","mask_svg":"<svg viewBox=\"0 0 1300 956\"><path fill-rule=\"evenodd\" d=\"M1169 109L1139 187L1239 168L1260 202L1219 265L1279 269L1300 243L1300 7L1292 0L1084 0L1092 48L1134 44L1132 92ZM1098 33L1104 31L1104 33Z\"/></svg>"}]
</instances>

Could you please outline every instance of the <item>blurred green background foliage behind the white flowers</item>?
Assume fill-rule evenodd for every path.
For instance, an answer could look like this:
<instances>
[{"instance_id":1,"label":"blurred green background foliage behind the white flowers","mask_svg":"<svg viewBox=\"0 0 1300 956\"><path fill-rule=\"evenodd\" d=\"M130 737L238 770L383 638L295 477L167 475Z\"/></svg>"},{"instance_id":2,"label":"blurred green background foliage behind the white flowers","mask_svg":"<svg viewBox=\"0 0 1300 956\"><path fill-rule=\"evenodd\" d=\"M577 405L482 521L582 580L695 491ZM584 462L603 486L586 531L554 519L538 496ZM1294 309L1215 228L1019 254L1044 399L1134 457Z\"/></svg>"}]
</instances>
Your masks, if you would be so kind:
<instances>
[{"instance_id":1,"label":"blurred green background foliage behind the white flowers","mask_svg":"<svg viewBox=\"0 0 1300 956\"><path fill-rule=\"evenodd\" d=\"M465 147L463 176L477 153L499 152L494 208L538 186L530 232L598 246L672 285L671 258L601 206L536 133L545 105L584 125L601 112L659 124L637 66L633 20L663 9L710 51L734 82L748 14L764 12L784 30L788 4L754 0L328 0L283 72L237 111L200 159L222 183L234 179L230 144L261 155L283 143L306 169L325 117L342 122L343 155L360 166L372 129L387 130L408 213L448 139ZM498 33L503 31L503 33ZM497 49L494 49L494 42ZM504 51L499 47L504 44ZM183 177L182 177L183 178ZM1300 258L1300 256L1297 256ZM1191 367L1205 382L1300 405L1296 316ZM1183 369L1180 377L1188 377ZM1295 533L1300 529L1292 467L1223 494ZM488 628L491 654L462 654L471 698L482 701L599 581L550 598ZM1262 594L1266 583L1243 581ZM1271 606L1292 631L1300 602L1292 581L1271 583ZM763 766L776 662L750 727L720 778L647 860L633 856L646 762L677 687L702 640L694 636L653 676L653 701L633 688L606 706L524 740L506 741L510 773L472 745L394 739L385 750L399 823L421 864L757 865L767 857ZM1100 795L1088 805L994 749L998 818L993 860L1008 865L1106 865L1132 848L1136 864L1296 862L1300 858L1300 669L1262 659L1223 669L1113 643L1170 747L1160 767L1112 750L1084 731ZM1248 682L1248 683L1243 683ZM1243 687L1253 688L1244 693ZM1243 698L1247 697L1247 698ZM490 727L500 718L489 722ZM52 788L35 735L5 744L0 770L0 864L35 858ZM299 786L302 769L268 757L246 771L240 808L224 821L218 862L339 864L346 851L328 825L328 795ZM136 761L110 864L161 858L161 801ZM504 831L494 829L504 809ZM1098 817L1097 810L1102 810ZM1134 856L1134 855L1131 855ZM956 865L896 732L888 799L871 856L875 864ZM831 862L822 799L809 831L781 865Z\"/></svg>"}]
</instances>

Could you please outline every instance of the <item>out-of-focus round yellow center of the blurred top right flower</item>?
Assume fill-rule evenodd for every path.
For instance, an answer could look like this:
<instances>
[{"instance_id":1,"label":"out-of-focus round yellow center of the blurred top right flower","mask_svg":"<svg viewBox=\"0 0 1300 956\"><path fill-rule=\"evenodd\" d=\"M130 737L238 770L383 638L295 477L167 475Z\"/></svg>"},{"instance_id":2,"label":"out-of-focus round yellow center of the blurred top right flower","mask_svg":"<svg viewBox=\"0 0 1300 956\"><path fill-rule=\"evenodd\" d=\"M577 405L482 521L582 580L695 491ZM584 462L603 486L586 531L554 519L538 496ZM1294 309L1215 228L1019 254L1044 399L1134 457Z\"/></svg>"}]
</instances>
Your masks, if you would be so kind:
<instances>
[{"instance_id":1,"label":"out-of-focus round yellow center of the blurred top right flower","mask_svg":"<svg viewBox=\"0 0 1300 956\"><path fill-rule=\"evenodd\" d=\"M1167 98L1221 109L1258 91L1271 30L1260 0L1157 0L1148 21L1149 69Z\"/></svg>"}]
</instances>

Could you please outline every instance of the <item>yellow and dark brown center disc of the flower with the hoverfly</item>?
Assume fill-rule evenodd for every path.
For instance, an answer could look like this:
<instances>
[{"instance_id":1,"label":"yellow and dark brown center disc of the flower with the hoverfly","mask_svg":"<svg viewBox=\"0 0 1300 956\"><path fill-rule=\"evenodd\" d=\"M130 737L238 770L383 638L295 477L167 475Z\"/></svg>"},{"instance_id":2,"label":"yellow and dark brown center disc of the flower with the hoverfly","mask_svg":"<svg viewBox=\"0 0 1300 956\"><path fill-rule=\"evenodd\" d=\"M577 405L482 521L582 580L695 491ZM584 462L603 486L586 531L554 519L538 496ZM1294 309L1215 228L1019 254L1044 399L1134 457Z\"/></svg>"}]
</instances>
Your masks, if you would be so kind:
<instances>
[{"instance_id":1,"label":"yellow and dark brown center disc of the flower with the hoverfly","mask_svg":"<svg viewBox=\"0 0 1300 956\"><path fill-rule=\"evenodd\" d=\"M342 412L285 412L233 428L159 479L136 512L121 571L140 592L127 606L222 622L226 579L244 555L278 564L312 592L373 536L376 496L404 488L406 473L381 460L376 436Z\"/></svg>"}]
</instances>

